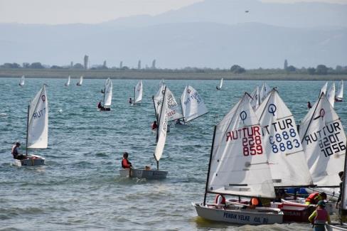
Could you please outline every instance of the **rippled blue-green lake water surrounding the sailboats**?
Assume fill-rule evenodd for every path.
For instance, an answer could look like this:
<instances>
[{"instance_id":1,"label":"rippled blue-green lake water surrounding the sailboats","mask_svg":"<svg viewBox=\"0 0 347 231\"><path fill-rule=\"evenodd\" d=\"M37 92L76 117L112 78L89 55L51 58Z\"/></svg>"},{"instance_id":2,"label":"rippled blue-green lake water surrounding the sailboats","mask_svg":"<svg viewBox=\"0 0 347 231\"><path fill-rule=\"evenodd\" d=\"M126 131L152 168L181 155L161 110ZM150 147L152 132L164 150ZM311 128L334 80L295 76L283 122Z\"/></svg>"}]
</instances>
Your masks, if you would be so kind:
<instances>
[{"instance_id":1,"label":"rippled blue-green lake water surrounding the sailboats","mask_svg":"<svg viewBox=\"0 0 347 231\"><path fill-rule=\"evenodd\" d=\"M151 96L159 80L143 80L141 105L130 107L137 80L113 80L111 112L97 111L104 80L85 79L70 87L63 79L0 78L0 230L311 230L309 224L237 227L203 220L191 202L202 202L213 136L213 125L261 81L167 80L176 99L185 85L196 88L209 113L186 129L172 128L160 168L164 181L120 178L122 153L134 167L153 168L156 136ZM43 83L48 85L48 149L31 153L46 158L46 166L15 167L11 146L25 146L26 110ZM297 122L316 101L324 82L268 81L292 110ZM336 82L337 84L337 82ZM335 104L347 123L346 101ZM22 150L24 151L24 149ZM210 195L209 200L213 200Z\"/></svg>"}]
</instances>

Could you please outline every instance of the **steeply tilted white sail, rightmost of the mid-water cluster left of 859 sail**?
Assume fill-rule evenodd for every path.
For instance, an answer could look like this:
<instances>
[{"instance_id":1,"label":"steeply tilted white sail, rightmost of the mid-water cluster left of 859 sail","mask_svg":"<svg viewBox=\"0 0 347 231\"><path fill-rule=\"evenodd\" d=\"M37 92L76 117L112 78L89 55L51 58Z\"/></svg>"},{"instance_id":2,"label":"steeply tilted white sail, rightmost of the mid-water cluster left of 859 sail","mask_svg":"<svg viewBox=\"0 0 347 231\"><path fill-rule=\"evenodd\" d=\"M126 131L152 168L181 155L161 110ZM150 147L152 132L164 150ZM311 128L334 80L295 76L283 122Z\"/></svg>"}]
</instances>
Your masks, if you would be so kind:
<instances>
[{"instance_id":1,"label":"steeply tilted white sail, rightmost of the mid-water cluster left of 859 sail","mask_svg":"<svg viewBox=\"0 0 347 231\"><path fill-rule=\"evenodd\" d=\"M181 107L185 123L208 113L203 99L189 85L184 88L183 94L181 95Z\"/></svg>"}]
</instances>

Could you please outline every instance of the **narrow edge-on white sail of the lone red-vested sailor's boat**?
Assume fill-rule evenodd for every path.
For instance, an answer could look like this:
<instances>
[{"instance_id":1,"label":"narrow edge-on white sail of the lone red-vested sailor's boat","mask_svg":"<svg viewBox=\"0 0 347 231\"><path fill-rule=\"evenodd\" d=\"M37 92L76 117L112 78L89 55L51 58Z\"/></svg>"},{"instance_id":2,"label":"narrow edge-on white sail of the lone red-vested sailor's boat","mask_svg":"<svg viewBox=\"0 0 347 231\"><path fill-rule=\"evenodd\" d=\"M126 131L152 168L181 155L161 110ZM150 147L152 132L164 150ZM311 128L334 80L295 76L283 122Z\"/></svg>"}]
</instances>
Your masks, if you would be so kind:
<instances>
[{"instance_id":1,"label":"narrow edge-on white sail of the lone red-vested sailor's boat","mask_svg":"<svg viewBox=\"0 0 347 231\"><path fill-rule=\"evenodd\" d=\"M158 141L156 143L156 151L154 156L156 161L161 159L164 151L165 141L166 141L166 130L168 127L168 114L167 114L168 98L164 90L163 106L159 113L159 127L158 127Z\"/></svg>"}]
</instances>

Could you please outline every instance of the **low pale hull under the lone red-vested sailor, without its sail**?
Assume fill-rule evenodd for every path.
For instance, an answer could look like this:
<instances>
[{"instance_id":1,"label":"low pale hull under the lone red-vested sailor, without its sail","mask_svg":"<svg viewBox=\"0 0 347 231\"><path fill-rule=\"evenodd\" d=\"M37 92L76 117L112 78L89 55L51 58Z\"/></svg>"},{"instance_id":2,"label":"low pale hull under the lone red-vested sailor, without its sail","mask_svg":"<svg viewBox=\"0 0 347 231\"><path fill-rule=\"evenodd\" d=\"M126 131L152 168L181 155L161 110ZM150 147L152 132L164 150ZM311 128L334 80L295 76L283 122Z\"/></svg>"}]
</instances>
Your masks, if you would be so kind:
<instances>
[{"instance_id":1,"label":"low pale hull under the lone red-vested sailor, without its sail","mask_svg":"<svg viewBox=\"0 0 347 231\"><path fill-rule=\"evenodd\" d=\"M119 170L119 174L122 177L129 176L134 178L146 178L149 180L158 180L158 179L166 178L168 172L132 168L131 171L129 171L129 169Z\"/></svg>"}]
</instances>

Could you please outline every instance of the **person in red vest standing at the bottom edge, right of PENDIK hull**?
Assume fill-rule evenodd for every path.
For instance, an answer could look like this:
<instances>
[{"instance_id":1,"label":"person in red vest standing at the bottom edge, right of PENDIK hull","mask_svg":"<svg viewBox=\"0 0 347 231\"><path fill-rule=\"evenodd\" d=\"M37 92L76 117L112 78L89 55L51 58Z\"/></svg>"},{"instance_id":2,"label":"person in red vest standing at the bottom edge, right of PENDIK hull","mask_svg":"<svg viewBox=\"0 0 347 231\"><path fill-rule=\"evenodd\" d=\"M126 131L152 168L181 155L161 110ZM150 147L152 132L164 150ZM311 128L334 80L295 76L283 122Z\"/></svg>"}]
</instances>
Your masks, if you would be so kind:
<instances>
[{"instance_id":1,"label":"person in red vest standing at the bottom edge, right of PENDIK hull","mask_svg":"<svg viewBox=\"0 0 347 231\"><path fill-rule=\"evenodd\" d=\"M324 200L319 200L316 210L309 216L309 221L314 225L314 231L324 231L326 222L330 224L329 213L326 211L325 206Z\"/></svg>"}]
</instances>

